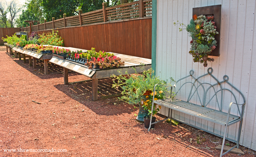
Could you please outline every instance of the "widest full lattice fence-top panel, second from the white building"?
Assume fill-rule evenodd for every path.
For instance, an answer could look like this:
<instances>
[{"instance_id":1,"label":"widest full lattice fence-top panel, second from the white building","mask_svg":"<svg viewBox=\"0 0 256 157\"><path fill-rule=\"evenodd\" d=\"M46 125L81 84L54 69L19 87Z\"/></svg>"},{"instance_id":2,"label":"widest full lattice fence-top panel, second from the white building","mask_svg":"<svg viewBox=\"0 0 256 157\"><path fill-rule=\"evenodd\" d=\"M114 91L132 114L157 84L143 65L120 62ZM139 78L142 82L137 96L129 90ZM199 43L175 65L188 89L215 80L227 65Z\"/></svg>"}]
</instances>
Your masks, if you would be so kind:
<instances>
[{"instance_id":1,"label":"widest full lattice fence-top panel, second from the white building","mask_svg":"<svg viewBox=\"0 0 256 157\"><path fill-rule=\"evenodd\" d=\"M106 8L107 21L139 17L139 1Z\"/></svg>"}]
</instances>

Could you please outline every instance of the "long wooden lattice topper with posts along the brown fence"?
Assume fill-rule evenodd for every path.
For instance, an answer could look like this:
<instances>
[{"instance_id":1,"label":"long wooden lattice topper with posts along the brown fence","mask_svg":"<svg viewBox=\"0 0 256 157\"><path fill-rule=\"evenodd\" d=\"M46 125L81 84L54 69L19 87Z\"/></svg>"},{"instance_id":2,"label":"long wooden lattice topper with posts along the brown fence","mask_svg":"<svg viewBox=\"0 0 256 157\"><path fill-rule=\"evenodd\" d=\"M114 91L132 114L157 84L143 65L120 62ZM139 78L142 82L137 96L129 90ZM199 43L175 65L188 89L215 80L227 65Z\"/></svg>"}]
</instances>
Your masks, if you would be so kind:
<instances>
[{"instance_id":1,"label":"long wooden lattice topper with posts along the brown fence","mask_svg":"<svg viewBox=\"0 0 256 157\"><path fill-rule=\"evenodd\" d=\"M79 10L79 15L66 17L63 14L62 19L52 18L52 21L36 25L32 25L33 31L49 30L63 27L81 26L86 24L95 24L100 22L109 22L122 19L136 19L143 17L152 17L152 0L139 0L131 3L121 4L112 7L106 7L106 3L103 3L103 9L95 10L92 12L82 13ZM20 31L30 31L30 27L20 28Z\"/></svg>"}]
</instances>

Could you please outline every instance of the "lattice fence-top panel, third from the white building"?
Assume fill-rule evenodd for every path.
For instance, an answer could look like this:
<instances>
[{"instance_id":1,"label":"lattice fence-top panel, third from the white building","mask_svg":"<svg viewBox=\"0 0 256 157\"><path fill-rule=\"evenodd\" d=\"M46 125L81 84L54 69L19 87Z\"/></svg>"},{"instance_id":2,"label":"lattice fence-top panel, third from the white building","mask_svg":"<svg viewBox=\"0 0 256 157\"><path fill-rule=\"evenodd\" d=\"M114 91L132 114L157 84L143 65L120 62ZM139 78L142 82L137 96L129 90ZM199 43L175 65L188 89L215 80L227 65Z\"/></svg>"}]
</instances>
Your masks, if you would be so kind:
<instances>
[{"instance_id":1,"label":"lattice fence-top panel, third from the white building","mask_svg":"<svg viewBox=\"0 0 256 157\"><path fill-rule=\"evenodd\" d=\"M82 25L103 22L103 9L81 14Z\"/></svg>"}]
</instances>

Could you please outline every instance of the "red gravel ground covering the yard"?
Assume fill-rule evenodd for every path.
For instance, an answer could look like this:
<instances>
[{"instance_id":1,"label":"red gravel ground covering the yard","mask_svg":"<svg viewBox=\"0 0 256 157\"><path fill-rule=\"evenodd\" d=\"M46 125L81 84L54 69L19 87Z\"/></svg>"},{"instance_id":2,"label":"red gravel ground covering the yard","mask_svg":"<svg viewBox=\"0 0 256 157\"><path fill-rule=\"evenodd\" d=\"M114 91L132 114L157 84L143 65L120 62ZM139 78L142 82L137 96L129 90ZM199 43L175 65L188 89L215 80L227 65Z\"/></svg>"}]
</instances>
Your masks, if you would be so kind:
<instances>
[{"instance_id":1,"label":"red gravel ground covering the yard","mask_svg":"<svg viewBox=\"0 0 256 157\"><path fill-rule=\"evenodd\" d=\"M62 73L44 75L42 62L37 64L41 67L29 67L0 47L0 156L220 155L214 147L221 144L221 138L187 125L161 122L148 132L144 124L135 121L138 108L117 98L103 99L120 93L111 89L111 78L99 81L99 100L92 102L90 81L64 85ZM50 67L49 70L62 69ZM86 79L89 78L69 73L70 82ZM17 152L17 149L52 148L67 152ZM4 152L4 149L16 149L16 152ZM255 151L241 146L240 149L246 157L255 156Z\"/></svg>"}]
</instances>

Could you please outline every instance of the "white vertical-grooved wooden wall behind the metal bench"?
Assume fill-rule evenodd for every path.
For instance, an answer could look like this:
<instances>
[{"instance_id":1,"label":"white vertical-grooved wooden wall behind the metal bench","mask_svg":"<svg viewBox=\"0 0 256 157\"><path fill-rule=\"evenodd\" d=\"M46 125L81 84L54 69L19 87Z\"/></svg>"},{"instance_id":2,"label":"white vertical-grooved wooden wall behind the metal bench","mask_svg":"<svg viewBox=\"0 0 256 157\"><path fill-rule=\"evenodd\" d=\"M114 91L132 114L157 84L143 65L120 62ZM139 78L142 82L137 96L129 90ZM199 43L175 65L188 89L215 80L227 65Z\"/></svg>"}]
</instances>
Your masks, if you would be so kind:
<instances>
[{"instance_id":1,"label":"white vertical-grooved wooden wall behind the metal bench","mask_svg":"<svg viewBox=\"0 0 256 157\"><path fill-rule=\"evenodd\" d=\"M165 80L170 77L178 80L187 76L191 69L195 71L194 76L207 73L207 68L203 64L193 63L188 53L191 37L185 30L179 32L173 22L188 24L192 18L192 8L218 4L222 4L220 57L214 57L215 61L208 63L207 68L212 67L213 76L220 81L223 81L224 75L228 75L229 82L244 94L246 107L240 144L256 150L255 0L157 0L156 74ZM209 77L202 81L214 83ZM176 98L185 100L187 93L183 90ZM229 98L224 100L224 105L228 105L233 99L231 94L225 95ZM192 102L199 101L195 98ZM216 104L210 107L216 108ZM167 115L168 110L162 107L159 113ZM174 117L223 135L224 127L220 125L179 112L175 112ZM238 125L230 126L228 137L234 138L237 130Z\"/></svg>"}]
</instances>

